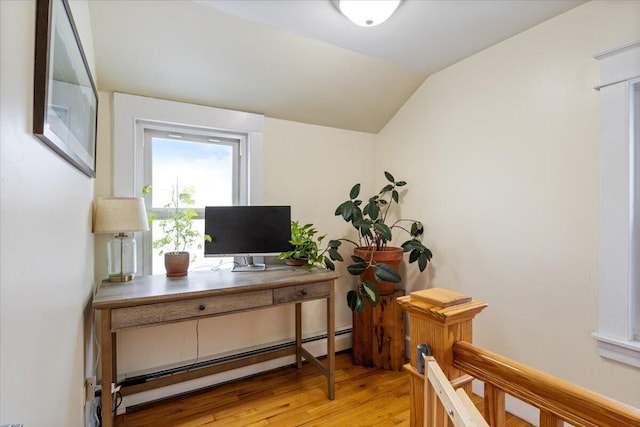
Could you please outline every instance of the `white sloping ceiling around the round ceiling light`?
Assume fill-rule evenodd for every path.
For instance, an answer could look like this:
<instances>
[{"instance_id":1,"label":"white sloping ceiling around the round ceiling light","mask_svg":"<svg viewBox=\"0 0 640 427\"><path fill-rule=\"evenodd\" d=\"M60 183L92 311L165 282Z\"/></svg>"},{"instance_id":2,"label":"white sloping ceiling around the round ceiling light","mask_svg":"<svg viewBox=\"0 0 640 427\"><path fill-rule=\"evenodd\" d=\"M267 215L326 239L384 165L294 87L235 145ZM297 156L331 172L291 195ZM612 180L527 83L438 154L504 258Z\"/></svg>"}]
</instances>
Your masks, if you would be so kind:
<instances>
[{"instance_id":1,"label":"white sloping ceiling around the round ceiling light","mask_svg":"<svg viewBox=\"0 0 640 427\"><path fill-rule=\"evenodd\" d=\"M99 90L378 132L429 74L582 3L405 0L371 28L332 0L89 8Z\"/></svg>"}]
</instances>

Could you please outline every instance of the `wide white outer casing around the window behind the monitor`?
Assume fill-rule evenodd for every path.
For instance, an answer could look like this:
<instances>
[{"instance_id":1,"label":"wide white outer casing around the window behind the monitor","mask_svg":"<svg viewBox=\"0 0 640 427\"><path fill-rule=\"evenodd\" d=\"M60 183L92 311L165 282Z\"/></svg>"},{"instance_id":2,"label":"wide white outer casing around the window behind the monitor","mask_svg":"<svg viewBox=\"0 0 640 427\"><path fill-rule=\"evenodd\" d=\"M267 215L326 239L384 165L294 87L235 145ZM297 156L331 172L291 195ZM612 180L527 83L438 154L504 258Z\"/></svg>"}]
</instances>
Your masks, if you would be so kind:
<instances>
[{"instance_id":1,"label":"wide white outer casing around the window behind the monitor","mask_svg":"<svg viewBox=\"0 0 640 427\"><path fill-rule=\"evenodd\" d=\"M113 195L142 197L144 177L144 127L167 124L183 130L201 129L232 133L246 140L245 183L241 183L241 202L260 205L264 202L264 116L215 107L113 93ZM245 185L246 184L246 185ZM149 240L149 232L136 233L138 242ZM148 246L148 245L146 245ZM149 274L142 265L145 244L137 245L138 271ZM145 264L148 264L145 263Z\"/></svg>"}]
</instances>

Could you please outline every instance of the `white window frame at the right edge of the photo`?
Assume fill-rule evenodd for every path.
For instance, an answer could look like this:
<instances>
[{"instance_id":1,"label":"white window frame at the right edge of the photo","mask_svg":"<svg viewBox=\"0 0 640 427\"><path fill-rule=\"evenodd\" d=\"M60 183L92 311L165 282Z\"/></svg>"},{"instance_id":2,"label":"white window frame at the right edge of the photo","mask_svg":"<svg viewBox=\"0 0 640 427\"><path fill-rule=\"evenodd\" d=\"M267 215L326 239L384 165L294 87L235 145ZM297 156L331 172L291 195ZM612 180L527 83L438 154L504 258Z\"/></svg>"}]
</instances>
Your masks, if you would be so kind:
<instances>
[{"instance_id":1,"label":"white window frame at the right edge of the photo","mask_svg":"<svg viewBox=\"0 0 640 427\"><path fill-rule=\"evenodd\" d=\"M640 368L640 200L632 108L640 82L640 40L607 50L600 61L599 324L592 336L600 355ZM640 129L635 129L635 132ZM634 334L634 329L636 333Z\"/></svg>"}]
</instances>

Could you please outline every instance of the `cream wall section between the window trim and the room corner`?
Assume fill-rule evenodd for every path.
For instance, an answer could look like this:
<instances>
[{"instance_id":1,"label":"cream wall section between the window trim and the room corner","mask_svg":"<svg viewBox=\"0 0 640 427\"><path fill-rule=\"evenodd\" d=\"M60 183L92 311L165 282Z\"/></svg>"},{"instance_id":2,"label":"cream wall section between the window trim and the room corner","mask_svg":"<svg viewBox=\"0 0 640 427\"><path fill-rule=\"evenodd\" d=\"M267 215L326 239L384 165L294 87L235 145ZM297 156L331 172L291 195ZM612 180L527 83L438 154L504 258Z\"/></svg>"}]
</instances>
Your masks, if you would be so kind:
<instances>
[{"instance_id":1,"label":"cream wall section between the window trim and the room corner","mask_svg":"<svg viewBox=\"0 0 640 427\"><path fill-rule=\"evenodd\" d=\"M313 223L329 239L356 238L342 217L334 216L356 183L368 194L374 188L375 135L285 120L265 120L265 201L291 204L291 216ZM376 190L377 191L377 190ZM352 248L345 244L342 256ZM336 286L336 327L351 326L347 290L353 286L347 263L336 263L342 277ZM322 317L318 313L318 317Z\"/></svg>"}]
</instances>

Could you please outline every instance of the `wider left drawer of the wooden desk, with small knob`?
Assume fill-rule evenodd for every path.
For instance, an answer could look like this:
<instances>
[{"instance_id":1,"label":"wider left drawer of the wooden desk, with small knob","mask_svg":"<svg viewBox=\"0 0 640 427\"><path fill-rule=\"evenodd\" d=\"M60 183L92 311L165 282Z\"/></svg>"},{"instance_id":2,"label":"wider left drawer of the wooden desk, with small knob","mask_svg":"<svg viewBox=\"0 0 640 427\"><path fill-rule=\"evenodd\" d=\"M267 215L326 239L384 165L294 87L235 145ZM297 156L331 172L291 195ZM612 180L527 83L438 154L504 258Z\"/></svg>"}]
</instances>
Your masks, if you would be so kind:
<instances>
[{"instance_id":1,"label":"wider left drawer of the wooden desk, with small knob","mask_svg":"<svg viewBox=\"0 0 640 427\"><path fill-rule=\"evenodd\" d=\"M135 328L198 319L200 317L269 306L273 303L269 289L242 294L163 302L118 308L111 312L111 330Z\"/></svg>"}]
</instances>

